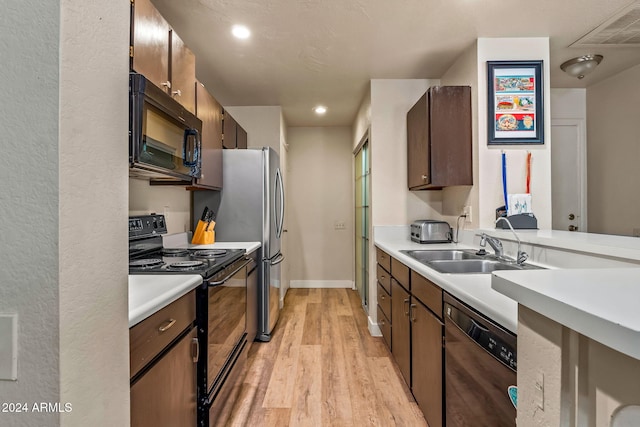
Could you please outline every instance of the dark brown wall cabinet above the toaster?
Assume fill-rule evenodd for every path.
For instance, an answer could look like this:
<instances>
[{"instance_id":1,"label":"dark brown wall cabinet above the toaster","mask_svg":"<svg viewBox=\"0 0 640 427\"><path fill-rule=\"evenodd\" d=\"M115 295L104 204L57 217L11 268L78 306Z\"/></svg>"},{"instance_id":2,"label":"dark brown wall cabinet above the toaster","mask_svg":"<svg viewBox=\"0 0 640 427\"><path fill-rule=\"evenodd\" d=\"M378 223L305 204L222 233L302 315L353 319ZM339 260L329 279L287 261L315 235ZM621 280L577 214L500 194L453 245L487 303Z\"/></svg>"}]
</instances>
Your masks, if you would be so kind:
<instances>
[{"instance_id":1,"label":"dark brown wall cabinet above the toaster","mask_svg":"<svg viewBox=\"0 0 640 427\"><path fill-rule=\"evenodd\" d=\"M473 185L471 144L471 88L429 88L407 113L409 189Z\"/></svg>"}]
</instances>

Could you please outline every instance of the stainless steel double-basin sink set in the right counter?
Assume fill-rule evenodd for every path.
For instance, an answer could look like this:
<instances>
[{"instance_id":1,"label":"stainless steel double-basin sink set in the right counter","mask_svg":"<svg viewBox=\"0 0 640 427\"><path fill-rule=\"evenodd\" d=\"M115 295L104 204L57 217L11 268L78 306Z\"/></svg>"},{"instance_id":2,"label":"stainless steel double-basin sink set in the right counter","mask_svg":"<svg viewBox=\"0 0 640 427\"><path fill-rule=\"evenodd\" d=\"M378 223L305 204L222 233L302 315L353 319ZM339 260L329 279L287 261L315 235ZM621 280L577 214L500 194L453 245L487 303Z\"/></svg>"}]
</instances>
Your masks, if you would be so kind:
<instances>
[{"instance_id":1,"label":"stainless steel double-basin sink set in the right counter","mask_svg":"<svg viewBox=\"0 0 640 427\"><path fill-rule=\"evenodd\" d=\"M532 270L542 267L516 264L493 255L476 255L471 249L400 251L445 274L488 274L496 270Z\"/></svg>"}]
</instances>

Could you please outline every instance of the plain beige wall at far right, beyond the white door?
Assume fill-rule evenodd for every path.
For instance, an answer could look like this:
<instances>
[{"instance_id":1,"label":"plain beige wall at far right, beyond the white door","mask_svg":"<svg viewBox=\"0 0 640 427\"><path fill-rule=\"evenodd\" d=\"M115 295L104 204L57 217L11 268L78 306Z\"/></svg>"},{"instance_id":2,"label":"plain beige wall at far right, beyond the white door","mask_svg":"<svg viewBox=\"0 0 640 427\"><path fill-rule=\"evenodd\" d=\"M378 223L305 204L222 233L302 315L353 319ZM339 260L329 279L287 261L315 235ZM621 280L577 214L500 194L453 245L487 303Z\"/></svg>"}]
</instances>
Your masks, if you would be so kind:
<instances>
[{"instance_id":1,"label":"plain beige wall at far right, beyond the white door","mask_svg":"<svg viewBox=\"0 0 640 427\"><path fill-rule=\"evenodd\" d=\"M589 231L640 229L640 66L587 88Z\"/></svg>"}]
</instances>

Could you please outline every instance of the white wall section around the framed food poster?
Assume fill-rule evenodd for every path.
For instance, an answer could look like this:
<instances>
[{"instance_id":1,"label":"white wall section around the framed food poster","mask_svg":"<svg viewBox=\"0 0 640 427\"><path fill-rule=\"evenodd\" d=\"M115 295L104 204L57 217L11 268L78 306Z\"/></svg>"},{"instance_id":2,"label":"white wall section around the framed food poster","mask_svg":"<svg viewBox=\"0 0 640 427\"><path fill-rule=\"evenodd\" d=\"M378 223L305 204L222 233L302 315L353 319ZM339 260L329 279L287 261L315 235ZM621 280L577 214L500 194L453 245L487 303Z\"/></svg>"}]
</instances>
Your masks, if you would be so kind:
<instances>
[{"instance_id":1,"label":"white wall section around the framed food poster","mask_svg":"<svg viewBox=\"0 0 640 427\"><path fill-rule=\"evenodd\" d=\"M491 146L487 145L487 61L542 60L544 94L544 144ZM526 189L527 151L532 153L531 195L538 228L551 228L551 108L549 86L549 39L479 38L478 39L478 167L479 226L493 227L495 209L504 205L502 193L501 152L507 154L507 189L509 193L524 193Z\"/></svg>"}]
</instances>

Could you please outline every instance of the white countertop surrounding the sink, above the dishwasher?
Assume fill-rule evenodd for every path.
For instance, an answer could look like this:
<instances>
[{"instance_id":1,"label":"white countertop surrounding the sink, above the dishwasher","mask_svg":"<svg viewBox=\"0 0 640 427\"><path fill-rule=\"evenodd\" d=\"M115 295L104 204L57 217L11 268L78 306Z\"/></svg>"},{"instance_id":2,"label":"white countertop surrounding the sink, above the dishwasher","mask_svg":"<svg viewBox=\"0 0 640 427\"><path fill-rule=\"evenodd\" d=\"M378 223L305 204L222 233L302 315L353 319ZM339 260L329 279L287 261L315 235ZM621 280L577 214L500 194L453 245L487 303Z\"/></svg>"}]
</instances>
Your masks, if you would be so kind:
<instances>
[{"instance_id":1,"label":"white countertop surrounding the sink, above the dishwasher","mask_svg":"<svg viewBox=\"0 0 640 427\"><path fill-rule=\"evenodd\" d=\"M395 230L394 230L395 229ZM491 288L490 274L442 274L400 250L477 249L465 244L419 244L409 239L402 227L376 227L374 243L380 249L440 286L444 291L475 308L514 334L518 328L518 304Z\"/></svg>"}]
</instances>

